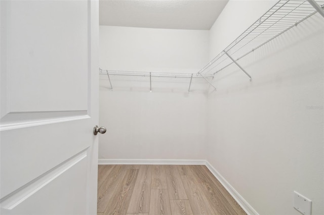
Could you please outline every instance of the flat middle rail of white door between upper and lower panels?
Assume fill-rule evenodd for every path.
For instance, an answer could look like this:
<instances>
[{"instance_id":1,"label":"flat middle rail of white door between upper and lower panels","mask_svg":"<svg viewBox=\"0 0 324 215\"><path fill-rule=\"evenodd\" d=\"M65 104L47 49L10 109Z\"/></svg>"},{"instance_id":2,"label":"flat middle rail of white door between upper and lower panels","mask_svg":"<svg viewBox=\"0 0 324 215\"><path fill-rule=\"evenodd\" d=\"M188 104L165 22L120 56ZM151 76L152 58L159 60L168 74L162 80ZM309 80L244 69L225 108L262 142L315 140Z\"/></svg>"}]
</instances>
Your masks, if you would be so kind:
<instances>
[{"instance_id":1,"label":"flat middle rail of white door between upper and lower panels","mask_svg":"<svg viewBox=\"0 0 324 215\"><path fill-rule=\"evenodd\" d=\"M76 122L79 121L86 120ZM2 131L1 139L10 141L2 141L1 144L1 198L86 149L89 142L93 142L91 125L83 129L82 125L75 125L75 122L59 124L60 127L58 124L48 124ZM62 141L79 132L73 137L76 144Z\"/></svg>"}]
</instances>

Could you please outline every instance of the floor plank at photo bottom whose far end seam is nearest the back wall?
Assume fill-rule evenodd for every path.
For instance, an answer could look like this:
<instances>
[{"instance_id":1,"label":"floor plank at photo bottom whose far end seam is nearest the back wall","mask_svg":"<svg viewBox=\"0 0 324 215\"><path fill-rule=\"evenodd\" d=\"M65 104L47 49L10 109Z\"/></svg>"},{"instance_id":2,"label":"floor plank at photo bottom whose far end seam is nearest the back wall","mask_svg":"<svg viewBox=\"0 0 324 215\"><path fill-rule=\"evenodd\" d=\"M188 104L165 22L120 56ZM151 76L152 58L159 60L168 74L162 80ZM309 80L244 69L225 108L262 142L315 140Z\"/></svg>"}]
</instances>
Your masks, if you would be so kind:
<instances>
[{"instance_id":1,"label":"floor plank at photo bottom whose far end seam is nearest the back wall","mask_svg":"<svg viewBox=\"0 0 324 215\"><path fill-rule=\"evenodd\" d=\"M170 200L167 189L151 189L150 215L170 215Z\"/></svg>"}]
</instances>

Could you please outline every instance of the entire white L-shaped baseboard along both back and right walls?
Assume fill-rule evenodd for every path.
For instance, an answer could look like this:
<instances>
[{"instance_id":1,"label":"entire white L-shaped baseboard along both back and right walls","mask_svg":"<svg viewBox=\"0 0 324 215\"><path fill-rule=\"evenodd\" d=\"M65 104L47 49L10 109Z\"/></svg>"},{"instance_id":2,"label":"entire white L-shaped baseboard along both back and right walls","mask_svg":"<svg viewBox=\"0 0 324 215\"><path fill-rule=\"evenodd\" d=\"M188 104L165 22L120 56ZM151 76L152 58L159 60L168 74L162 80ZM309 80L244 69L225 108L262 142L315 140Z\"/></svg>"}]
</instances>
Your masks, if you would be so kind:
<instances>
[{"instance_id":1,"label":"entire white L-shaped baseboard along both back and right walls","mask_svg":"<svg viewBox=\"0 0 324 215\"><path fill-rule=\"evenodd\" d=\"M99 165L205 165L248 215L259 213L204 159L99 159Z\"/></svg>"}]
</instances>

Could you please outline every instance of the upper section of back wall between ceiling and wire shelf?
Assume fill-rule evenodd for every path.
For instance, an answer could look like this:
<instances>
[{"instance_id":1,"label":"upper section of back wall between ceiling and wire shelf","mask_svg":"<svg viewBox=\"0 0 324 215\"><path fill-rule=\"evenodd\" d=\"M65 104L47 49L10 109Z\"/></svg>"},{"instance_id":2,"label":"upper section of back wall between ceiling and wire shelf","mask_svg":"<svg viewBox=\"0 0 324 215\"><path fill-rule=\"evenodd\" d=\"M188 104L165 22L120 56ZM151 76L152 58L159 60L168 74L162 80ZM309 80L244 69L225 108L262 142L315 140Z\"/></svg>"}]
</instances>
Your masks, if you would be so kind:
<instances>
[{"instance_id":1,"label":"upper section of back wall between ceiling and wire shelf","mask_svg":"<svg viewBox=\"0 0 324 215\"><path fill-rule=\"evenodd\" d=\"M100 67L196 73L208 61L209 31L100 26Z\"/></svg>"}]
</instances>

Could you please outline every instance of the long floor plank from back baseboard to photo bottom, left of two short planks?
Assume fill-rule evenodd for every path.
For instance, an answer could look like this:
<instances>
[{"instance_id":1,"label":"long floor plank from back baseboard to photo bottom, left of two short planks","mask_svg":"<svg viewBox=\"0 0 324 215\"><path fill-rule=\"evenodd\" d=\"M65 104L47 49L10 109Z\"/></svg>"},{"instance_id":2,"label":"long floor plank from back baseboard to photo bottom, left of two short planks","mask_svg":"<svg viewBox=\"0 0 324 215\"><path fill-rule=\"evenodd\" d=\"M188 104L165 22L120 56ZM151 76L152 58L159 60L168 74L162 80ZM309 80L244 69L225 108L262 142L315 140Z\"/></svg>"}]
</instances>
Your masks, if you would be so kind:
<instances>
[{"instance_id":1,"label":"long floor plank from back baseboard to photo bottom, left of two short planks","mask_svg":"<svg viewBox=\"0 0 324 215\"><path fill-rule=\"evenodd\" d=\"M151 165L142 165L139 169L135 188L128 206L128 213L148 213L152 181Z\"/></svg>"}]
</instances>

